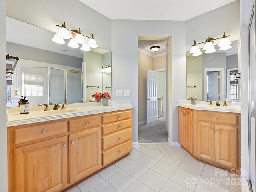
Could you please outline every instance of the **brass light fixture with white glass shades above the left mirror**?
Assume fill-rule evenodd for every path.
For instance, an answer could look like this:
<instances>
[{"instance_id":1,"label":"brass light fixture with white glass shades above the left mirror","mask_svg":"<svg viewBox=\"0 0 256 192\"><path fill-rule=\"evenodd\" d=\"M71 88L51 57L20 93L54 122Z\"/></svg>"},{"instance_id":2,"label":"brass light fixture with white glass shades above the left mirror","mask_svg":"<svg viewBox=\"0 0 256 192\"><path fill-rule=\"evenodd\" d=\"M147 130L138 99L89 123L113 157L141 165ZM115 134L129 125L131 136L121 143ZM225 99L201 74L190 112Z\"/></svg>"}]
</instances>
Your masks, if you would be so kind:
<instances>
[{"instance_id":1,"label":"brass light fixture with white glass shades above the left mirror","mask_svg":"<svg viewBox=\"0 0 256 192\"><path fill-rule=\"evenodd\" d=\"M90 34L90 36L86 36L81 33L80 28L78 28L77 30L70 30L66 28L65 22L62 22L62 26L60 25L56 25L56 26L60 27L60 30L52 38L53 42L58 44L64 44L65 43L64 39L70 39L68 46L72 48L78 48L79 44L82 44L82 47L80 49L83 51L90 51L91 50L90 47L91 48L98 47L92 33ZM71 32L71 36L68 31ZM87 37L90 39L88 43L85 42L84 37Z\"/></svg>"}]
</instances>

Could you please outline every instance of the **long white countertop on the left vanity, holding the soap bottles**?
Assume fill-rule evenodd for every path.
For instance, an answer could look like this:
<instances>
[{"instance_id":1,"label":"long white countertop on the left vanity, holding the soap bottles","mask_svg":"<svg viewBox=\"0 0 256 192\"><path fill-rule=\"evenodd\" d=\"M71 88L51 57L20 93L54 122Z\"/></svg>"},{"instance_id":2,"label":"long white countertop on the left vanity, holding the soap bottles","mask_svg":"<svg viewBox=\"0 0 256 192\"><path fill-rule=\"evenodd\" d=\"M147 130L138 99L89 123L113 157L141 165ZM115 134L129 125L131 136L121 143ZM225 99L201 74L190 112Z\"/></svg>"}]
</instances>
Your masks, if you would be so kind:
<instances>
[{"instance_id":1,"label":"long white countertop on the left vanity, holding the soap bottles","mask_svg":"<svg viewBox=\"0 0 256 192\"><path fill-rule=\"evenodd\" d=\"M131 101L110 101L108 106L102 106L102 102L68 104L63 110L62 104L58 110L53 107L49 105L50 111L44 111L45 106L30 106L28 114L20 114L19 107L7 108L7 127L133 108Z\"/></svg>"}]
</instances>

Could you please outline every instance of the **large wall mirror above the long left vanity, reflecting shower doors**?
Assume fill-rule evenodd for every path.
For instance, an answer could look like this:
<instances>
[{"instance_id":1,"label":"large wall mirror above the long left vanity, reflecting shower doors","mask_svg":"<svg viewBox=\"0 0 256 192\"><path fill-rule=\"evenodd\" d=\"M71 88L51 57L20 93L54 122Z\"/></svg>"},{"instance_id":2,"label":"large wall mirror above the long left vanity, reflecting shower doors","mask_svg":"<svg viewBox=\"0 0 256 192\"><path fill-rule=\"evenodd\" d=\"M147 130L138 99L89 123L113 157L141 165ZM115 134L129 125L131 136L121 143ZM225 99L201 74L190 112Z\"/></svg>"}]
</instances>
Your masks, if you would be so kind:
<instances>
[{"instance_id":1,"label":"large wall mirror above the long left vanity, reflecting shower doors","mask_svg":"<svg viewBox=\"0 0 256 192\"><path fill-rule=\"evenodd\" d=\"M68 40L56 44L51 40L54 34L6 17L7 54L20 58L7 78L7 107L18 106L21 96L38 105L93 102L94 92L111 94L111 72L101 72L102 67L111 66L111 52L100 47L84 52L68 47ZM13 90L19 91L18 97Z\"/></svg>"}]
</instances>

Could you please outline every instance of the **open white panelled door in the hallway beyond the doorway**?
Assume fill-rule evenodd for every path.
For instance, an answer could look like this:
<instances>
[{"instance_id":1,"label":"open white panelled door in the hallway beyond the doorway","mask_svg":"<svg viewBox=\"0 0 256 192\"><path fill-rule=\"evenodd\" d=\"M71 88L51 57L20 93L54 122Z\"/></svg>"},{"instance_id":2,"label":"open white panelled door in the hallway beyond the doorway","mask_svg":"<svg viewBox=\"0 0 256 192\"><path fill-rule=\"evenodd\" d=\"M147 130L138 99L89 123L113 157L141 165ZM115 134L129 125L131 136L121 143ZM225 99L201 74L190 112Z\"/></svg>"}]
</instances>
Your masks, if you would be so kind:
<instances>
[{"instance_id":1,"label":"open white panelled door in the hallway beyond the doorway","mask_svg":"<svg viewBox=\"0 0 256 192\"><path fill-rule=\"evenodd\" d=\"M147 70L147 124L157 120L157 72Z\"/></svg>"}]
</instances>

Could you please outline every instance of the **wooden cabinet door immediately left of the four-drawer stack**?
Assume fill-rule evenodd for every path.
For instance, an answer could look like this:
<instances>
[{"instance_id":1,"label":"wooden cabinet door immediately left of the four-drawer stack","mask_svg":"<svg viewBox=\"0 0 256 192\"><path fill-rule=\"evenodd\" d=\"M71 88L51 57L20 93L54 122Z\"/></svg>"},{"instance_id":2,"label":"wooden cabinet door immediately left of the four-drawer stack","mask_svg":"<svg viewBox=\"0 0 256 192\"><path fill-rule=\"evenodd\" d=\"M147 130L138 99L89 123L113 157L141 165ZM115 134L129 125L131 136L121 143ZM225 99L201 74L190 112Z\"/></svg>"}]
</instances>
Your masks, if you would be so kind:
<instances>
[{"instance_id":1,"label":"wooden cabinet door immediately left of the four-drawer stack","mask_svg":"<svg viewBox=\"0 0 256 192\"><path fill-rule=\"evenodd\" d=\"M69 135L70 183L101 166L100 127Z\"/></svg>"}]
</instances>

